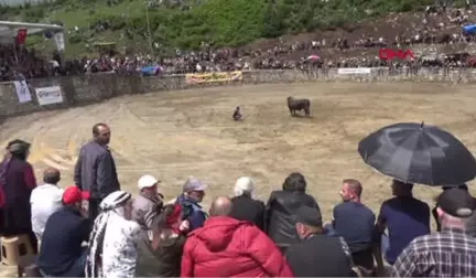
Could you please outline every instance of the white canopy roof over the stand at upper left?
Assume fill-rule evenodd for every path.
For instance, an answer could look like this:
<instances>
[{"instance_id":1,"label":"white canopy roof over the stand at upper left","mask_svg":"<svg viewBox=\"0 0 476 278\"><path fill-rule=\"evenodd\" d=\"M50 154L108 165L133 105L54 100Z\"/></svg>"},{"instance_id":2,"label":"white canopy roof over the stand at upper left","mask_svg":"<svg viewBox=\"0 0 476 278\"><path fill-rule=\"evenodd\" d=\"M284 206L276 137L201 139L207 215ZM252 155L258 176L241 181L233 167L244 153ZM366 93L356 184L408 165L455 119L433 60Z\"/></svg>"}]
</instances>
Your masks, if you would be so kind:
<instances>
[{"instance_id":1,"label":"white canopy roof over the stand at upper left","mask_svg":"<svg viewBox=\"0 0 476 278\"><path fill-rule=\"evenodd\" d=\"M56 24L0 21L0 38L13 39L17 36L19 29L26 29L26 35L39 34L44 31L57 33L64 30L63 26Z\"/></svg>"}]
</instances>

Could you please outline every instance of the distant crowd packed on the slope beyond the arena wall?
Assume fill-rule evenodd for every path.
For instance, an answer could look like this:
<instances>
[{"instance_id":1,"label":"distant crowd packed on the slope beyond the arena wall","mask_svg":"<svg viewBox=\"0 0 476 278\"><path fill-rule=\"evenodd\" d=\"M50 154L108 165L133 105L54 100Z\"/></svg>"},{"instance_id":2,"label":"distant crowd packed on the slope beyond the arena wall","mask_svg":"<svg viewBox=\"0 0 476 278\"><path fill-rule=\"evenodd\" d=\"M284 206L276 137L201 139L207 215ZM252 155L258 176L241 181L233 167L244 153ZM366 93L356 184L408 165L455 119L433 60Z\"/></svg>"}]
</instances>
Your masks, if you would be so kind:
<instances>
[{"instance_id":1,"label":"distant crowd packed on the slope beyond the arena wall","mask_svg":"<svg viewBox=\"0 0 476 278\"><path fill-rule=\"evenodd\" d=\"M128 56L100 55L96 57L63 58L53 53L45 58L24 46L0 45L1 81L37 78L54 75L80 75L100 72L138 74L141 68L158 66L154 74L184 74L199 72L227 72L242 70L312 70L315 67L375 67L389 63L378 57L379 49L403 49L431 44L473 44L474 35L465 34L461 26L472 24L470 6L450 9L450 1L436 1L421 13L414 28L394 38L363 31L357 38L349 34L312 35L307 39L277 40L261 46L214 49L204 42L196 51L176 50L172 56L152 57L149 54ZM404 19L401 19L401 28ZM441 21L441 22L436 22ZM380 23L375 23L380 24ZM381 23L383 24L383 23ZM410 31L409 31L410 30ZM309 58L316 56L317 58ZM474 67L476 56L467 52L415 53L415 61L393 61L392 67Z\"/></svg>"}]
</instances>

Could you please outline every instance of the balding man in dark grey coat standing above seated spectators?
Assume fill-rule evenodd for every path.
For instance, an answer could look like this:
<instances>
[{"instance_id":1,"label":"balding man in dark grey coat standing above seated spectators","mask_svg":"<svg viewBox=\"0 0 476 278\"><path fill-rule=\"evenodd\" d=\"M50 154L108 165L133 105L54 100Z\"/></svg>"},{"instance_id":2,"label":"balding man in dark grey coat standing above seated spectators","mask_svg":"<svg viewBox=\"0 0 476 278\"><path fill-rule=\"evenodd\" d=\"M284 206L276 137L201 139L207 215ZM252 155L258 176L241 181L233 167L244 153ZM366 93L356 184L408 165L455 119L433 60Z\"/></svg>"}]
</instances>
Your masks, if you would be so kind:
<instances>
[{"instance_id":1,"label":"balding man in dark grey coat standing above seated spectators","mask_svg":"<svg viewBox=\"0 0 476 278\"><path fill-rule=\"evenodd\" d=\"M106 124L93 127L93 140L82 147L74 180L82 191L89 192L89 220L99 213L99 204L109 193L120 190L116 163L108 148L110 129Z\"/></svg>"}]
</instances>

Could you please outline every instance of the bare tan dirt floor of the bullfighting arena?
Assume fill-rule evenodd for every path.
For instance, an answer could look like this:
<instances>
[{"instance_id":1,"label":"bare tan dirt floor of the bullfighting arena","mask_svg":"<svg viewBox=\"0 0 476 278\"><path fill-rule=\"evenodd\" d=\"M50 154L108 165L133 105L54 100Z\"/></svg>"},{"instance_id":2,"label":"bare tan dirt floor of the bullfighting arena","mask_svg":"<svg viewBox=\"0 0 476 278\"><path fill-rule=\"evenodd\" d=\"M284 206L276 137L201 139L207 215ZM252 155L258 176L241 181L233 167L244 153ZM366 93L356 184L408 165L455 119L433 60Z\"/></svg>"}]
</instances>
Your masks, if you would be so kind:
<instances>
[{"instance_id":1,"label":"bare tan dirt floor of the bullfighting arena","mask_svg":"<svg viewBox=\"0 0 476 278\"><path fill-rule=\"evenodd\" d=\"M250 175L258 197L267 200L289 173L300 171L328 221L345 178L363 182L363 201L376 213L390 196L391 180L370 170L357 152L358 141L382 126L424 120L476 151L475 90L430 83L309 83L155 93L9 119L0 128L0 142L31 141L39 182L51 165L62 170L61 184L69 185L78 148L90 138L93 125L104 121L112 129L122 188L130 192L137 192L141 174L151 173L172 199L195 175L210 185L209 203L231 194L238 177ZM310 98L313 117L290 117L288 96ZM242 122L230 119L236 106L246 117ZM439 192L415 188L415 195L431 205Z\"/></svg>"}]
</instances>

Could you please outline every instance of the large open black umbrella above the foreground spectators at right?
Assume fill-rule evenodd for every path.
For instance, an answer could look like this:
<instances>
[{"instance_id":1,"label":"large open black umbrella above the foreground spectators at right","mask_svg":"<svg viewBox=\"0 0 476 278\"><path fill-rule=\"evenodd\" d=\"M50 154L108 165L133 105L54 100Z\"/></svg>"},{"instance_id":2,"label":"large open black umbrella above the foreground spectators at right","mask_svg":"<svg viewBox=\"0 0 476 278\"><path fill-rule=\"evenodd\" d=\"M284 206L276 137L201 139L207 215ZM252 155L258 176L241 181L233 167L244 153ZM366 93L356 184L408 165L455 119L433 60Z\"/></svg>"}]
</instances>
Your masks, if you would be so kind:
<instances>
[{"instance_id":1,"label":"large open black umbrella above the foreground spectators at right","mask_svg":"<svg viewBox=\"0 0 476 278\"><path fill-rule=\"evenodd\" d=\"M396 124L364 138L364 161L397 180L426 185L457 185L476 177L476 161L453 135L434 126Z\"/></svg>"}]
</instances>

